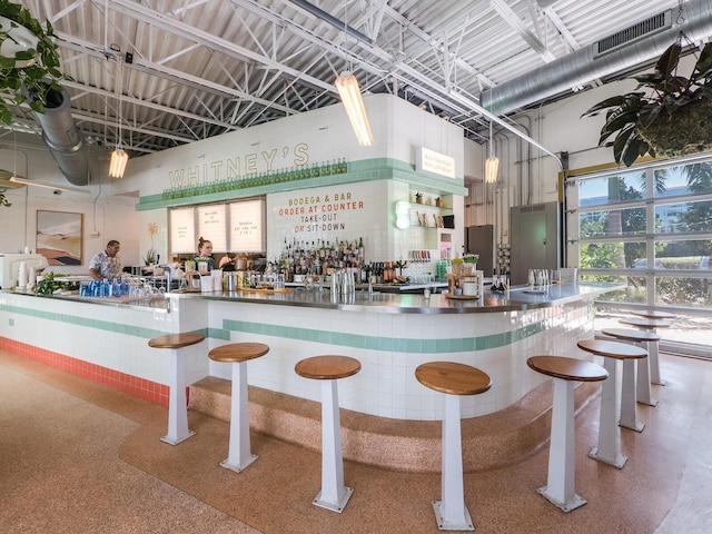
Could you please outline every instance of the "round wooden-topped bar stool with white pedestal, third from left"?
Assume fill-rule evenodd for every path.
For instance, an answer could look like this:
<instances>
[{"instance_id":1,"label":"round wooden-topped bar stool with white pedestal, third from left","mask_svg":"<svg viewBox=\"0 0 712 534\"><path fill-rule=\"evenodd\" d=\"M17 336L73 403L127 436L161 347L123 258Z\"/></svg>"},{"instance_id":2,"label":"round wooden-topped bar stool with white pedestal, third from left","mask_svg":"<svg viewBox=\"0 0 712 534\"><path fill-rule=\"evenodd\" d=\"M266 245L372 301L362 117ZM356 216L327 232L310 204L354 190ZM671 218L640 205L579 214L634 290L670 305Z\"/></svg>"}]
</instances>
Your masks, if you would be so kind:
<instances>
[{"instance_id":1,"label":"round wooden-topped bar stool with white pedestal, third from left","mask_svg":"<svg viewBox=\"0 0 712 534\"><path fill-rule=\"evenodd\" d=\"M340 514L354 488L344 486L342 423L336 380L358 373L360 362L348 356L313 356L297 362L294 370L304 378L322 380L322 491L313 504Z\"/></svg>"}]
</instances>

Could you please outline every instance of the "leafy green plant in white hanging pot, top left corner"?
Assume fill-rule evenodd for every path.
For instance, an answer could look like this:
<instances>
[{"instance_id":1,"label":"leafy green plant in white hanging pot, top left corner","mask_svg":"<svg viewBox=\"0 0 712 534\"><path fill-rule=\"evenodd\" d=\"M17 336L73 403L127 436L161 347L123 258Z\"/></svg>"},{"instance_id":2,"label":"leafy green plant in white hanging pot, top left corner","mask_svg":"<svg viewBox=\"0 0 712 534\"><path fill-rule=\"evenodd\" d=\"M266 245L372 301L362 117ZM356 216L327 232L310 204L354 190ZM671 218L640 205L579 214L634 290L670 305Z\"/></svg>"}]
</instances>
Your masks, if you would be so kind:
<instances>
[{"instance_id":1,"label":"leafy green plant in white hanging pot, top left corner","mask_svg":"<svg viewBox=\"0 0 712 534\"><path fill-rule=\"evenodd\" d=\"M22 87L37 95L28 102L30 108L43 113L47 86L61 91L59 81L72 79L59 69L55 37L49 21L42 27L23 6L0 0L0 50L4 49L0 53L0 123L12 121L8 105L28 101L24 91L20 91ZM9 97L6 92L14 95Z\"/></svg>"}]
</instances>

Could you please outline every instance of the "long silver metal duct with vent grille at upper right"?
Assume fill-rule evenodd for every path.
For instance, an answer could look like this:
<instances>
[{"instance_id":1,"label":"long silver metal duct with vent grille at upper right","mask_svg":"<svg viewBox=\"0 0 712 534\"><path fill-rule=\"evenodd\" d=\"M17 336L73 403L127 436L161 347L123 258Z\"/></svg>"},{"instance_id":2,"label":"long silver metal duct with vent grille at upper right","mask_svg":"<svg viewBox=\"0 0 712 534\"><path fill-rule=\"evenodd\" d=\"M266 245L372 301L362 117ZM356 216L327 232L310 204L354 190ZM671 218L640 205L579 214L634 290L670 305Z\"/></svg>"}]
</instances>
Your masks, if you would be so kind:
<instances>
[{"instance_id":1,"label":"long silver metal duct with vent grille at upper right","mask_svg":"<svg viewBox=\"0 0 712 534\"><path fill-rule=\"evenodd\" d=\"M541 69L483 91L479 103L495 115L506 115L532 102L656 59L680 37L680 32L684 32L691 41L701 41L712 36L710 0L690 0L684 3L683 16L678 18L680 22L671 19L672 11L655 14Z\"/></svg>"}]
</instances>

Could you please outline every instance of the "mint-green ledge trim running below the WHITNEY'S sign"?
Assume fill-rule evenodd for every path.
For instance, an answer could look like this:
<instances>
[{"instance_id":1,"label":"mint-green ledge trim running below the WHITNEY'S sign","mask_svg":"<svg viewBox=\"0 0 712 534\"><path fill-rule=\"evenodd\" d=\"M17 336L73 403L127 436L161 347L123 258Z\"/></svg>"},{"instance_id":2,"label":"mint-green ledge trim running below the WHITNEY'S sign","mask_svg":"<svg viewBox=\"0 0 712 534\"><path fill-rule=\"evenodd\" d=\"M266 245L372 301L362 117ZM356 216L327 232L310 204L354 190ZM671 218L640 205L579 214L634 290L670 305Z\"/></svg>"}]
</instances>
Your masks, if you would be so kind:
<instances>
[{"instance_id":1,"label":"mint-green ledge trim running below the WHITNEY'S sign","mask_svg":"<svg viewBox=\"0 0 712 534\"><path fill-rule=\"evenodd\" d=\"M417 172L415 166L392 158L373 158L349 162L348 171L337 175L326 175L309 178L290 178L278 181L279 176L246 178L240 180L240 187L226 191L209 192L219 187L219 184L208 184L195 188L186 188L186 195L180 198L165 198L164 194L147 195L139 199L136 209L148 211L151 209L172 208L178 206L192 206L202 202L219 202L238 200L271 192L309 189L314 187L327 187L342 184L357 184L374 180L399 180L412 185L414 188L432 189L441 195L467 195L462 178L445 178L432 172ZM249 185L254 182L254 185ZM190 192L189 189L195 189Z\"/></svg>"}]
</instances>

